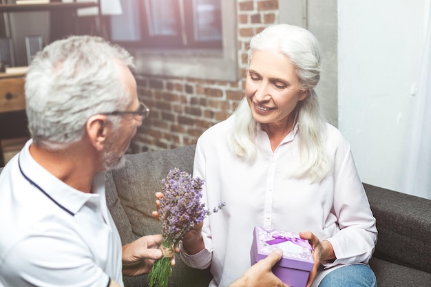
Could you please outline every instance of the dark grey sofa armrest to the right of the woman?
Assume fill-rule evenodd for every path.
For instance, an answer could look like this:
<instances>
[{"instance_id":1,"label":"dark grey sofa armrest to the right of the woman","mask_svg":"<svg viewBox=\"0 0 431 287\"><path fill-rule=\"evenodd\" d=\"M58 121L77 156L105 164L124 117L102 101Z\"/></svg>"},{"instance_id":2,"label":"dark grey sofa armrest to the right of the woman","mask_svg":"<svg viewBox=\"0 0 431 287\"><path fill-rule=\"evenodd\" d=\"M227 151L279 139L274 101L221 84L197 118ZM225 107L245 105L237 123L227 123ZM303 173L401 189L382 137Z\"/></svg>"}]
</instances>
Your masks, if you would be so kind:
<instances>
[{"instance_id":1,"label":"dark grey sofa armrest to the right of the woman","mask_svg":"<svg viewBox=\"0 0 431 287\"><path fill-rule=\"evenodd\" d=\"M379 232L374 256L431 273L431 200L364 187Z\"/></svg>"}]
</instances>

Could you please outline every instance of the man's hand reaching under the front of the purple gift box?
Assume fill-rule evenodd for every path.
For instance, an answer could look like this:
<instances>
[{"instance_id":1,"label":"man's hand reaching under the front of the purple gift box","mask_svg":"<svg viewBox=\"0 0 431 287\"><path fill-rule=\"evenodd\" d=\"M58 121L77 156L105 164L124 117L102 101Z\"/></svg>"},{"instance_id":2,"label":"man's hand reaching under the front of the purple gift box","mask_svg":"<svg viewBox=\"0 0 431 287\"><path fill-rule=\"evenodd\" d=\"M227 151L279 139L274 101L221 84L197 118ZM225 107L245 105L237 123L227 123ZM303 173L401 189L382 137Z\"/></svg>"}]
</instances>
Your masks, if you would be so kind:
<instances>
[{"instance_id":1,"label":"man's hand reaching under the front of the purple gift box","mask_svg":"<svg viewBox=\"0 0 431 287\"><path fill-rule=\"evenodd\" d=\"M244 275L229 287L288 287L271 272L273 266L282 259L282 256L283 251L281 249L273 251L268 257L246 270Z\"/></svg>"}]
</instances>

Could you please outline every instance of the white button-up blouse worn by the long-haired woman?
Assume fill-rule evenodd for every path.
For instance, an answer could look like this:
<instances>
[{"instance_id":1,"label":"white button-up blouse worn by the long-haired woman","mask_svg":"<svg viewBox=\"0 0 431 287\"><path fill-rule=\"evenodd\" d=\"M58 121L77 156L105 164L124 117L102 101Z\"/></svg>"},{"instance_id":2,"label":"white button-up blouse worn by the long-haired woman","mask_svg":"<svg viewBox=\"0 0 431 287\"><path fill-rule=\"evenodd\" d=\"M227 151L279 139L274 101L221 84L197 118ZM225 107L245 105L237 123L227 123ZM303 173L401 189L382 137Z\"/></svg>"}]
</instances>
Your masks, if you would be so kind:
<instances>
[{"instance_id":1,"label":"white button-up blouse worn by the long-haired woman","mask_svg":"<svg viewBox=\"0 0 431 287\"><path fill-rule=\"evenodd\" d=\"M335 127L324 126L326 151L333 167L320 183L288 178L299 161L299 127L273 152L263 131L253 164L231 153L227 131L234 116L202 134L196 147L193 176L204 182L203 200L212 209L226 202L222 211L204 220L205 249L196 255L181 251L189 266L211 264L209 286L229 286L250 266L254 226L284 231L311 231L328 240L337 259L321 268L313 286L335 266L368 264L377 241L377 229L364 187L359 179L350 145Z\"/></svg>"}]
</instances>

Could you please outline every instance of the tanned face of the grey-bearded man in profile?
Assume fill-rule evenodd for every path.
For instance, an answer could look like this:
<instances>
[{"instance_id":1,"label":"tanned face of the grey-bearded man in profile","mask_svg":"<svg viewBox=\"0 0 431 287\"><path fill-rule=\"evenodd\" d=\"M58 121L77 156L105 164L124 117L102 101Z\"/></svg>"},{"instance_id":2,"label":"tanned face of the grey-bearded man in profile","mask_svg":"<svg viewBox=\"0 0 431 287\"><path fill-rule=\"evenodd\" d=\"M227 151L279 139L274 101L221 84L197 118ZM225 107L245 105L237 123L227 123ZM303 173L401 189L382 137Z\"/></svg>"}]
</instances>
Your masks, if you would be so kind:
<instances>
[{"instance_id":1,"label":"tanned face of the grey-bearded man in profile","mask_svg":"<svg viewBox=\"0 0 431 287\"><path fill-rule=\"evenodd\" d=\"M136 81L132 72L125 65L120 66L120 74L125 83L131 103L127 107L127 111L136 111L139 109L140 104L138 101L138 94L136 92ZM142 125L142 116L125 114L120 116L120 123L116 129L112 130L105 142L105 149L103 150L103 162L105 169L119 169L125 164L125 153L127 148L135 136L136 131Z\"/></svg>"}]
</instances>

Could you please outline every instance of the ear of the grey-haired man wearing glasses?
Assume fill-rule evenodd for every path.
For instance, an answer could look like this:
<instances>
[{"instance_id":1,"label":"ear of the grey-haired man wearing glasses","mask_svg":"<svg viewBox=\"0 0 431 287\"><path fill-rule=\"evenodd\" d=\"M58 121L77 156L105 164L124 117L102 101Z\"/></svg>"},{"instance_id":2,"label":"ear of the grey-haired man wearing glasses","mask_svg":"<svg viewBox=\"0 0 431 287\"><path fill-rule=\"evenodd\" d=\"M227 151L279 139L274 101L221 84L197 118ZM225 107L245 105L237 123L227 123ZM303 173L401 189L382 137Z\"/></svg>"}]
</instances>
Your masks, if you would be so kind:
<instances>
[{"instance_id":1,"label":"ear of the grey-haired man wearing glasses","mask_svg":"<svg viewBox=\"0 0 431 287\"><path fill-rule=\"evenodd\" d=\"M85 132L94 148L98 151L103 150L103 145L105 145L106 142L108 134L107 123L107 117L105 115L97 114L90 116L85 124Z\"/></svg>"}]
</instances>

